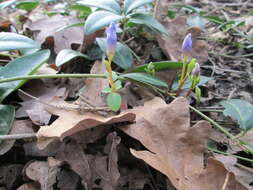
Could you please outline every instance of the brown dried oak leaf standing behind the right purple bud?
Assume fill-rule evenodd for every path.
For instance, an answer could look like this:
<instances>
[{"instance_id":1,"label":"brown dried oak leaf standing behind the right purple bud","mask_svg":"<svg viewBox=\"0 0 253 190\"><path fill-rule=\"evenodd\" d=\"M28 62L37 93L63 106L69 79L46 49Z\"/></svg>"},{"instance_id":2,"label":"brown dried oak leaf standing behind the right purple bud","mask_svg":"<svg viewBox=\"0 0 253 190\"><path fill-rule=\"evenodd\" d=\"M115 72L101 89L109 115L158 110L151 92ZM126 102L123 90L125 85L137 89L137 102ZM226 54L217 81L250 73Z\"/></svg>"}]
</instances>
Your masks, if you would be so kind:
<instances>
[{"instance_id":1,"label":"brown dried oak leaf standing behind the right purple bud","mask_svg":"<svg viewBox=\"0 0 253 190\"><path fill-rule=\"evenodd\" d=\"M181 46L187 33L192 33L193 51L191 56L196 58L199 63L204 63L208 59L208 45L203 40L197 40L201 31L197 27L189 28L187 18L179 16L174 20L167 17L170 0L157 1L154 15L168 29L168 36L157 36L159 46L164 54L172 60L182 59Z\"/></svg>"}]
</instances>

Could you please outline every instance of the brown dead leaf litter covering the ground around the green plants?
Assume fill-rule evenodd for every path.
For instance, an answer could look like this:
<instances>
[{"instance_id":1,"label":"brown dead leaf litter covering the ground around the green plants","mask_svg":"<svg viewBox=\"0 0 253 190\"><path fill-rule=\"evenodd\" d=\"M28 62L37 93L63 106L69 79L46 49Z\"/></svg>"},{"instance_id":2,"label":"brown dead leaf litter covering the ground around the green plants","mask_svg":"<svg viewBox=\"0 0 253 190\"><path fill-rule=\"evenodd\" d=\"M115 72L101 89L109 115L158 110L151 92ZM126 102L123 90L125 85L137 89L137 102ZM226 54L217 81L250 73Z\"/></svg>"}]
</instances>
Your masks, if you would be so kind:
<instances>
[{"instance_id":1,"label":"brown dead leaf litter covering the ground around the green plants","mask_svg":"<svg viewBox=\"0 0 253 190\"><path fill-rule=\"evenodd\" d=\"M183 37L188 32L192 32L195 47L192 56L196 57L200 63L206 64L209 47L206 42L198 39L206 31L203 32L196 27L188 28L187 18L184 16L174 20L163 20L162 16L167 14L169 5L170 1L161 0L156 7L156 18L170 31L169 37L157 37L159 47L167 58L180 60ZM82 44L82 28L56 32L59 28L78 21L72 17L57 15L42 18L40 15L30 21L27 21L26 27L33 31L35 39L50 46L50 49L56 53L61 49L73 48L73 44L80 44L80 46ZM49 24L54 27L45 27ZM246 25L245 30L249 31L251 22L247 20ZM94 41L94 35L96 36L93 34L90 41ZM222 36L226 39L226 36ZM90 44L83 48L86 49ZM221 59L221 62L227 63L227 60ZM223 65L220 66L224 69ZM104 72L104 65L96 61L91 73ZM227 71L218 69L214 73L220 74L218 78L220 81L229 82L238 78L237 75L230 73L230 78L221 79L227 75ZM165 76L170 86L176 76L176 71L165 71L158 75L161 78L163 78L162 75ZM31 86L25 86L24 90L52 104L72 105L63 100L65 97L52 99L54 96L63 96L64 91L59 90L58 87L48 89L43 86L41 90L36 89L36 86L41 83L41 81L32 81ZM84 84L84 90L80 92L80 98L76 102L78 105L81 102L83 106L105 106L105 95L101 93L107 85L105 79L87 79L82 84ZM222 86L221 83L218 83L215 89L222 91L221 89L224 88L220 86ZM54 189L55 187L66 190L83 187L105 190L127 187L127 189L135 190L145 189L147 186L152 188L157 185L162 186L162 184L156 184L159 183L158 179L154 179L161 176L161 172L173 185L173 187L163 186L161 189L198 190L205 187L207 190L241 190L252 188L250 185L252 171L238 164L235 158L208 153L206 144L209 139L222 141L222 138L226 137L217 138L215 136L217 133L205 121L191 125L189 103L186 99L177 98L170 104L166 104L145 88L131 83L122 91L125 108L129 106L133 109L122 111L119 115L107 112L81 113L77 110L56 107L45 108L35 100L28 100L20 95L23 100L21 109L26 110L20 111L26 112L20 117L28 115L33 121L33 127L30 126L30 120L29 122L15 121L10 134L23 133L26 131L26 123L29 123L29 132L37 131L38 142L28 140L12 141L10 145L1 144L4 147L1 148L2 154L8 153L9 149L17 151L17 146L22 146L25 159L21 159L20 165L1 165L0 186L4 184L7 189L20 190ZM225 93L220 94L228 95L227 89ZM223 98L216 94L210 96L212 98L207 101ZM88 101L83 102L83 98ZM20 124L16 125L17 122ZM19 126L20 129L16 130L15 126ZM122 131L127 135L122 134ZM251 139L250 132L244 138ZM252 139L247 142L251 141ZM235 152L238 152L238 149ZM36 160L27 162L34 157ZM44 161L41 161L41 157ZM148 171L144 169L145 163L142 160L155 170L149 167ZM13 168L16 171L15 175L7 175ZM22 184L16 182L21 176L24 178L23 181L21 180Z\"/></svg>"}]
</instances>

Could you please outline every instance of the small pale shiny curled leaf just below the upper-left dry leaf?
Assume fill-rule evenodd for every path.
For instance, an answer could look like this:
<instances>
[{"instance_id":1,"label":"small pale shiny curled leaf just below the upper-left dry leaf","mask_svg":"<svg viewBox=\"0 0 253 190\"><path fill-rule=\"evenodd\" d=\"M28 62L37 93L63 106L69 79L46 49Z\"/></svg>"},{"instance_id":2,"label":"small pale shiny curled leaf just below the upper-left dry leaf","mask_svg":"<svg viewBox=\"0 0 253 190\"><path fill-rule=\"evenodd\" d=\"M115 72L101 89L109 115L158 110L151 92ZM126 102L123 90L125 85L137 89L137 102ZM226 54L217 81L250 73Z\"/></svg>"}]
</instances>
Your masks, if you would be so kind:
<instances>
[{"instance_id":1,"label":"small pale shiny curled leaf just below the upper-left dry leaf","mask_svg":"<svg viewBox=\"0 0 253 190\"><path fill-rule=\"evenodd\" d=\"M78 51L74 51L72 49L63 49L58 53L58 55L55 59L55 65L57 67L60 67L63 64L69 62L71 59L74 59L76 57L83 57L85 59L89 59L89 57L87 55L82 54Z\"/></svg>"}]
</instances>

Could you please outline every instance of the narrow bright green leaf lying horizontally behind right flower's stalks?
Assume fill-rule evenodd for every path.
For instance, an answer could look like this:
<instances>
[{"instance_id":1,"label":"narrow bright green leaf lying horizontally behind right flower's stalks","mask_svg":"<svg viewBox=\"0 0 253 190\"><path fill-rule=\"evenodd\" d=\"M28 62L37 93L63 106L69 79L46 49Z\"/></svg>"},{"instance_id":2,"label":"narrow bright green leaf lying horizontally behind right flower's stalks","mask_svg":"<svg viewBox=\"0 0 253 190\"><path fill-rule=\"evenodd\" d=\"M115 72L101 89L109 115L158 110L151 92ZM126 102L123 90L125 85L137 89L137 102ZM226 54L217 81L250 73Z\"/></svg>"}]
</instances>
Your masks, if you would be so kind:
<instances>
[{"instance_id":1,"label":"narrow bright green leaf lying horizontally behind right flower's stalks","mask_svg":"<svg viewBox=\"0 0 253 190\"><path fill-rule=\"evenodd\" d=\"M149 63L148 63L149 64ZM145 70L148 67L148 64L144 64L138 67L135 67L131 72L145 72ZM182 68L183 63L182 62L175 62L175 61L159 61L159 62L153 62L155 71L162 71L167 69L179 69Z\"/></svg>"}]
</instances>

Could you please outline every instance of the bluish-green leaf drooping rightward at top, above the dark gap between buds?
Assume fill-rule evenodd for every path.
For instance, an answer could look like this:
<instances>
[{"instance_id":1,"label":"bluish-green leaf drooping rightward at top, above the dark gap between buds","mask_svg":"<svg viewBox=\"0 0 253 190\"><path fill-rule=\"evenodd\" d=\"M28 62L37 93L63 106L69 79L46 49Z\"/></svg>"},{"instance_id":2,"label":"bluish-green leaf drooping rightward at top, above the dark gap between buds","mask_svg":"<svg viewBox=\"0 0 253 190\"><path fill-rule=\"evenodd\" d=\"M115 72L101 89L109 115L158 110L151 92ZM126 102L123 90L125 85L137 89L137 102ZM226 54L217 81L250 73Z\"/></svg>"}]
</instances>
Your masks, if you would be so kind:
<instances>
[{"instance_id":1,"label":"bluish-green leaf drooping rightward at top, above the dark gap between buds","mask_svg":"<svg viewBox=\"0 0 253 190\"><path fill-rule=\"evenodd\" d=\"M158 31L163 34L167 34L167 29L160 22L158 22L155 18L153 18L150 15L136 13L131 16L131 18L129 19L129 22L132 22L135 24L144 24L155 31Z\"/></svg>"}]
</instances>

